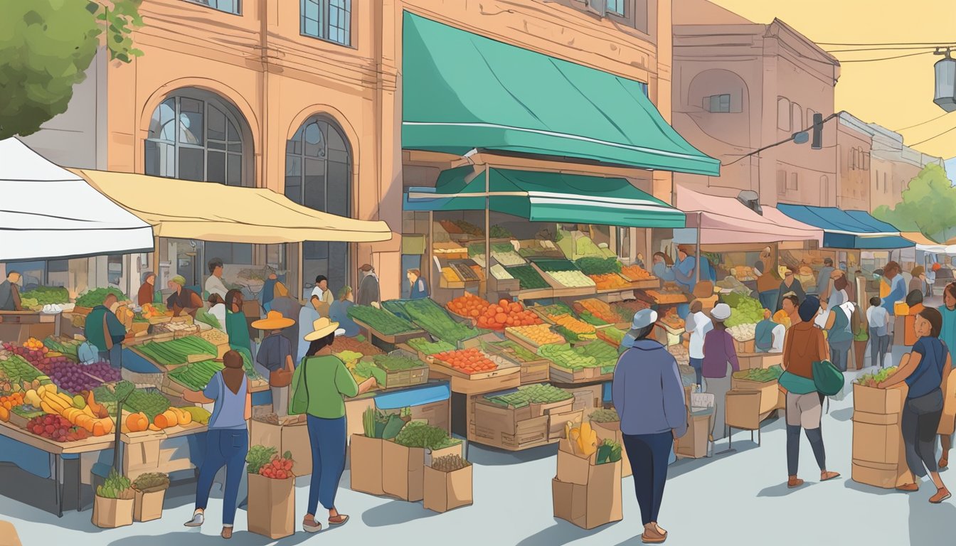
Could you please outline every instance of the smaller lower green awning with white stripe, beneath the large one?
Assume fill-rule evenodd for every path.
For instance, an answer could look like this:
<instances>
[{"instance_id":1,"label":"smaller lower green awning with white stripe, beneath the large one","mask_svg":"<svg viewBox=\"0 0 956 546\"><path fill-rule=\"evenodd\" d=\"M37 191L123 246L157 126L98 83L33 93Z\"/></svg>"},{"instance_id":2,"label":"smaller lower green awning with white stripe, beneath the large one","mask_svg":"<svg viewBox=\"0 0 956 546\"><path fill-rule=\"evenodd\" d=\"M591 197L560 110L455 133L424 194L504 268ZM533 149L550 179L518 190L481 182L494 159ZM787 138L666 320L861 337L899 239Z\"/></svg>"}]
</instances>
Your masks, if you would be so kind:
<instances>
[{"instance_id":1,"label":"smaller lower green awning with white stripe, beneath the large one","mask_svg":"<svg viewBox=\"0 0 956 546\"><path fill-rule=\"evenodd\" d=\"M442 172L435 187L410 187L405 210L489 209L532 222L631 228L684 228L684 212L622 178L466 165Z\"/></svg>"}]
</instances>

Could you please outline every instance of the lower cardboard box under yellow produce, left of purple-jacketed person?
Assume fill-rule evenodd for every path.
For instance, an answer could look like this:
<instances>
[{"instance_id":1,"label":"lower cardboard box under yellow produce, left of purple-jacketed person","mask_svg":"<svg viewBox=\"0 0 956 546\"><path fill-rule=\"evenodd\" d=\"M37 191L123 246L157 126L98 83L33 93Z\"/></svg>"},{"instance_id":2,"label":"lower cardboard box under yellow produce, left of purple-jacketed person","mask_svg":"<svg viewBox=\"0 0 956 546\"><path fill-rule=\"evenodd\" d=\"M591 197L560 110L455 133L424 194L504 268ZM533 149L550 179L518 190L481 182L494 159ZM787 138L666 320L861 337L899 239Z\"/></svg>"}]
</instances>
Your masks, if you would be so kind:
<instances>
[{"instance_id":1,"label":"lower cardboard box under yellow produce, left of purple-jacketed person","mask_svg":"<svg viewBox=\"0 0 956 546\"><path fill-rule=\"evenodd\" d=\"M600 471L587 485L562 482L557 478L552 480L554 517L560 517L582 529L594 529L624 518L620 498L620 462L599 465L597 468Z\"/></svg>"}]
</instances>

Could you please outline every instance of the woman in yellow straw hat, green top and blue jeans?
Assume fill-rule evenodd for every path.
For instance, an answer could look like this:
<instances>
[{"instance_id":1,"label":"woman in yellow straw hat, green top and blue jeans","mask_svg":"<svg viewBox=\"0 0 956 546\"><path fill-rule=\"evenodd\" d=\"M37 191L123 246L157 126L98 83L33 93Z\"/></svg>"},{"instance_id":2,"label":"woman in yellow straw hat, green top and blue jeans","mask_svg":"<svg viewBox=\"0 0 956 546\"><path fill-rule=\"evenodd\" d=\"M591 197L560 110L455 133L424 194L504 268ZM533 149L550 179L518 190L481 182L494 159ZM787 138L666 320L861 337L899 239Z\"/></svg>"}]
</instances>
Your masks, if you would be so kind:
<instances>
[{"instance_id":1,"label":"woman in yellow straw hat, green top and blue jeans","mask_svg":"<svg viewBox=\"0 0 956 546\"><path fill-rule=\"evenodd\" d=\"M338 323L321 317L313 323L313 332L305 336L310 342L306 358L293 376L293 395L289 413L306 414L309 443L312 445L312 483L309 486L309 507L302 528L316 533L322 525L315 520L318 503L329 511L329 525L341 525L349 516L336 510L338 481L345 470L347 440L344 398L354 398L375 388L378 382L369 378L356 383L345 363L332 354Z\"/></svg>"}]
</instances>

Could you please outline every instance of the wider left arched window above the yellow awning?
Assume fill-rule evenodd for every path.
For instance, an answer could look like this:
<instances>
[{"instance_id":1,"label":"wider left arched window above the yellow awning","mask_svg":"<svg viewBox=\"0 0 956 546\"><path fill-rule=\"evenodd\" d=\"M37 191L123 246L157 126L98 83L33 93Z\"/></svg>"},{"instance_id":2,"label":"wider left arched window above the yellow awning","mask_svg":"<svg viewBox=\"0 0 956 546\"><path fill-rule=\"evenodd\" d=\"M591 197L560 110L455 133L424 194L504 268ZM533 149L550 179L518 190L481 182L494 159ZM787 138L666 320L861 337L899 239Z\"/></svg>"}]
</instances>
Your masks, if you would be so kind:
<instances>
[{"instance_id":1,"label":"wider left arched window above the yellow awning","mask_svg":"<svg viewBox=\"0 0 956 546\"><path fill-rule=\"evenodd\" d=\"M200 89L177 91L149 121L146 174L251 186L248 133L242 115L225 99Z\"/></svg>"}]
</instances>

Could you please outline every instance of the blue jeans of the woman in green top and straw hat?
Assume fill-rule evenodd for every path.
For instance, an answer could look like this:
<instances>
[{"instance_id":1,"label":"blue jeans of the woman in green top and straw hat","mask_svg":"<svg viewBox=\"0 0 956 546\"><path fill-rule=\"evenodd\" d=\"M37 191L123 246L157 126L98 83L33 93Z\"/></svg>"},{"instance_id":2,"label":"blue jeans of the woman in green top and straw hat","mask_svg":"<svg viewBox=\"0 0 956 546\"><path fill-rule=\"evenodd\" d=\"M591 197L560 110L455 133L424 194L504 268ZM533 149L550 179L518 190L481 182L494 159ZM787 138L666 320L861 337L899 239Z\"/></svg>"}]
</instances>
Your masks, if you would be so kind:
<instances>
[{"instance_id":1,"label":"blue jeans of the woman in green top and straw hat","mask_svg":"<svg viewBox=\"0 0 956 546\"><path fill-rule=\"evenodd\" d=\"M345 417L322 419L309 415L309 444L312 446L312 482L309 484L309 507L315 515L321 501L326 510L336 508L338 481L345 470Z\"/></svg>"}]
</instances>

